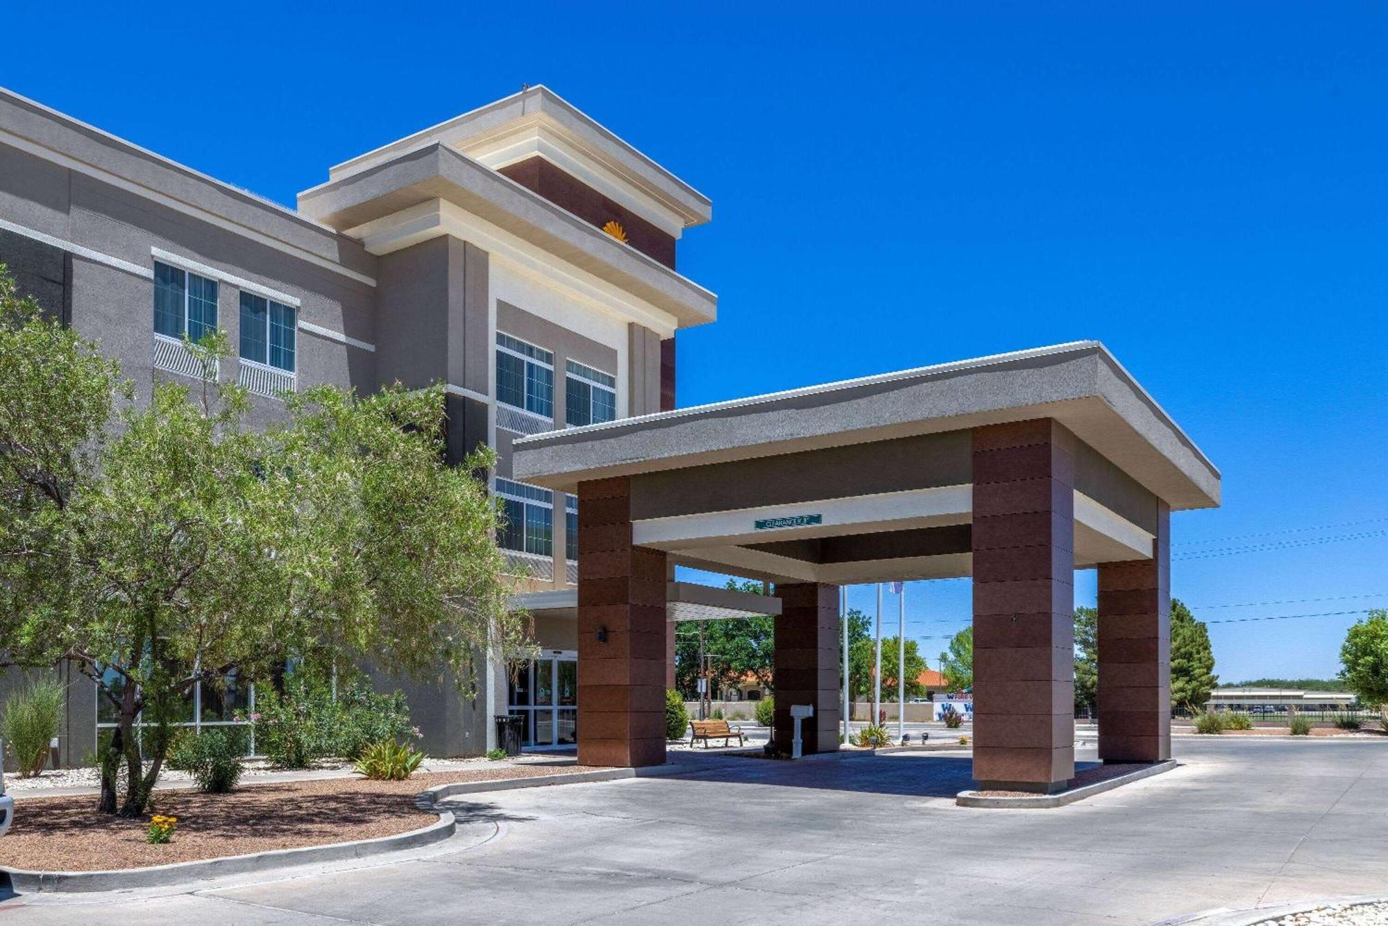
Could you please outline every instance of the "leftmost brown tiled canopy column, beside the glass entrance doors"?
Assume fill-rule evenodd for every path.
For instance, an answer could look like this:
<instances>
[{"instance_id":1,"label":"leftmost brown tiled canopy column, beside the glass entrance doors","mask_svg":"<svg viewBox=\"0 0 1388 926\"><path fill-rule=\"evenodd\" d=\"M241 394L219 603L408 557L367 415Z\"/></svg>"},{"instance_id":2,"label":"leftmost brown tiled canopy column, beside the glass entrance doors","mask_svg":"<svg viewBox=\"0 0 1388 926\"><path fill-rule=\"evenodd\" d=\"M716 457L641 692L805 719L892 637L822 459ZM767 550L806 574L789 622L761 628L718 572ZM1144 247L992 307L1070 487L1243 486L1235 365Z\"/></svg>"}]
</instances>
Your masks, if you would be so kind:
<instances>
[{"instance_id":1,"label":"leftmost brown tiled canopy column, beside the glass entrance doors","mask_svg":"<svg viewBox=\"0 0 1388 926\"><path fill-rule=\"evenodd\" d=\"M579 484L579 764L665 762L665 553L632 543L629 478Z\"/></svg>"}]
</instances>

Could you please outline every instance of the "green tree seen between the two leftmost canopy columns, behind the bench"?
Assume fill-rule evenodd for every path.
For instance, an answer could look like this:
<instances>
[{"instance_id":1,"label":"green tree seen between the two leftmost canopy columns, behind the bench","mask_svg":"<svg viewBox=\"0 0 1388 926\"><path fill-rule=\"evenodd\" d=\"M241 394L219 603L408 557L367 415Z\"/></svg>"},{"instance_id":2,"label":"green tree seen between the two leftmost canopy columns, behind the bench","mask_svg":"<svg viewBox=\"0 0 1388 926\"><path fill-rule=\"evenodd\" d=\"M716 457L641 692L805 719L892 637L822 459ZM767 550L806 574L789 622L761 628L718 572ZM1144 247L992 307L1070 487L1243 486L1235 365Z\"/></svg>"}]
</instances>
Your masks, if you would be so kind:
<instances>
[{"instance_id":1,"label":"green tree seen between the two leftmost canopy columns, behind the bench","mask_svg":"<svg viewBox=\"0 0 1388 926\"><path fill-rule=\"evenodd\" d=\"M761 582L729 579L734 592L762 595ZM776 620L768 614L722 621L677 621L675 624L675 685L687 696L698 692L700 629L704 634L704 653L709 657L711 683L734 688L752 676L770 686L776 670Z\"/></svg>"}]
</instances>

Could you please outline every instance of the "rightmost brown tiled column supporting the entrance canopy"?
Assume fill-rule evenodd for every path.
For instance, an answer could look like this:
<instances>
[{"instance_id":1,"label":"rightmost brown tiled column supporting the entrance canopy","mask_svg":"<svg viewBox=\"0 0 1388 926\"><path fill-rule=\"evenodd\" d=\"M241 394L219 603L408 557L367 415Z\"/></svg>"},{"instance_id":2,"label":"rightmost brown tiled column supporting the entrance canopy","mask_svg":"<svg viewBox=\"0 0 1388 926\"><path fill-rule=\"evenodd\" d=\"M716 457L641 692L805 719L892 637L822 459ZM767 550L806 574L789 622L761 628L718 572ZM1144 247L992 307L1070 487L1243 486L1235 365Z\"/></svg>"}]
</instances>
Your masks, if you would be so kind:
<instances>
[{"instance_id":1,"label":"rightmost brown tiled column supporting the entrance canopy","mask_svg":"<svg viewBox=\"0 0 1388 926\"><path fill-rule=\"evenodd\" d=\"M1171 757L1171 509L1158 502L1152 559L1099 564L1099 758Z\"/></svg>"}]
</instances>

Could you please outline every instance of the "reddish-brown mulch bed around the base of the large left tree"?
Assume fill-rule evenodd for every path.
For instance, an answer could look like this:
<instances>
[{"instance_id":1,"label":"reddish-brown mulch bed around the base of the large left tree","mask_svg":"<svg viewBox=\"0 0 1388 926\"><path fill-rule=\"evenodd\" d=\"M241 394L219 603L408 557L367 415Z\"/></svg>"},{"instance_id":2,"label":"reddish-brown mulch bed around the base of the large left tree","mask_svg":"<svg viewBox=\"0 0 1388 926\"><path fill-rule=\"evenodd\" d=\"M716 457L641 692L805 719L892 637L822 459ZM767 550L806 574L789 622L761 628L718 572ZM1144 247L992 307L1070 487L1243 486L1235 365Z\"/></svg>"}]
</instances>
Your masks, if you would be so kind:
<instances>
[{"instance_id":1,"label":"reddish-brown mulch bed around the base of the large left tree","mask_svg":"<svg viewBox=\"0 0 1388 926\"><path fill-rule=\"evenodd\" d=\"M580 771L590 769L508 765L415 775L404 782L333 778L242 785L230 794L157 790L150 812L178 818L174 841L165 846L144 840L149 816L97 814L93 796L32 797L17 801L14 825L0 839L0 865L49 872L146 868L394 836L437 819L415 807L415 796L436 785Z\"/></svg>"}]
</instances>

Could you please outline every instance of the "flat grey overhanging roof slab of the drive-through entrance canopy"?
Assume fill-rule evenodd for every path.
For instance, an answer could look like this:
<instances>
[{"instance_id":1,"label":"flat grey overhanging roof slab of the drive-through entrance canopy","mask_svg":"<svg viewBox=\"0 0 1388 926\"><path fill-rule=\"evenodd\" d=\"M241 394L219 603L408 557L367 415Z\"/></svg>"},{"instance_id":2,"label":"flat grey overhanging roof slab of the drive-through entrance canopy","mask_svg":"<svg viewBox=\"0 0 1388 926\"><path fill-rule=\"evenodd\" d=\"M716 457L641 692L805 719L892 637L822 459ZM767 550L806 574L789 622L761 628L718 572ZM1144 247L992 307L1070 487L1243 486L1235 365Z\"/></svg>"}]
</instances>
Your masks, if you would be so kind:
<instances>
[{"instance_id":1,"label":"flat grey overhanging roof slab of the drive-through entrance canopy","mask_svg":"<svg viewBox=\"0 0 1388 926\"><path fill-rule=\"evenodd\" d=\"M1220 473L1098 341L715 402L514 442L514 478L584 480L1052 417L1171 509L1217 507Z\"/></svg>"}]
</instances>

